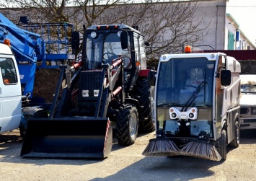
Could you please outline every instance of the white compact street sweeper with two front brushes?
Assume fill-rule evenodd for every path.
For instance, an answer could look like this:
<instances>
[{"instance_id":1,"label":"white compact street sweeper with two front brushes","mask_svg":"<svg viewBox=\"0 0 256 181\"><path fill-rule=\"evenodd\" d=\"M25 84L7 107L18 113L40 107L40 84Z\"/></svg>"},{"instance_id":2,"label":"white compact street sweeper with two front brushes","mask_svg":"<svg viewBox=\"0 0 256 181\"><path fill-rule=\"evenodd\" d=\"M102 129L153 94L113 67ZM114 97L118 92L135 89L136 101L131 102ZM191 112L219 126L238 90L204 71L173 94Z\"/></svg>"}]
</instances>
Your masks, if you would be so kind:
<instances>
[{"instance_id":1,"label":"white compact street sweeper with two front brushes","mask_svg":"<svg viewBox=\"0 0 256 181\"><path fill-rule=\"evenodd\" d=\"M240 71L224 53L162 55L155 76L156 138L143 155L225 160L227 145L239 146Z\"/></svg>"}]
</instances>

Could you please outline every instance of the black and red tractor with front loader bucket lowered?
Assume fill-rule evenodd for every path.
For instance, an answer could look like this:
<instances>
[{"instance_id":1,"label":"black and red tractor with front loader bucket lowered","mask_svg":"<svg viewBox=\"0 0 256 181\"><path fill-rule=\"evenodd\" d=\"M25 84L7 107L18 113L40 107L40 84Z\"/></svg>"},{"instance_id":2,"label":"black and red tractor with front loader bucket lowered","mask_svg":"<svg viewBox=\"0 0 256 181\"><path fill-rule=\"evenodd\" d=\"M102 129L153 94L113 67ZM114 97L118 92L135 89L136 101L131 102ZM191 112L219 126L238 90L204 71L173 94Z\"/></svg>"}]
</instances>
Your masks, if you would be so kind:
<instances>
[{"instance_id":1,"label":"black and red tractor with front loader bucket lowered","mask_svg":"<svg viewBox=\"0 0 256 181\"><path fill-rule=\"evenodd\" d=\"M79 37L72 34L74 49ZM84 26L82 44L76 63L61 66L49 118L28 121L22 157L105 158L112 125L123 146L134 143L138 129L154 131L148 43L141 32L127 25Z\"/></svg>"}]
</instances>

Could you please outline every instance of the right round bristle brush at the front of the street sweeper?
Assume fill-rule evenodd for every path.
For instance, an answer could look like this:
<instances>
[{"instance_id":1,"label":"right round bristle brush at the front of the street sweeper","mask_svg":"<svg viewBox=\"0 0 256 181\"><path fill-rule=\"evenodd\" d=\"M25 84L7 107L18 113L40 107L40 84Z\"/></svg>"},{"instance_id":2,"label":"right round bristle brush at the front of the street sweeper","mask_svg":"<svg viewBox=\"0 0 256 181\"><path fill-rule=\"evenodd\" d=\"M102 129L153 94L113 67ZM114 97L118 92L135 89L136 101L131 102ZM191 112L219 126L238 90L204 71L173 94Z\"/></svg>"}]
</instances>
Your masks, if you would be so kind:
<instances>
[{"instance_id":1,"label":"right round bristle brush at the front of the street sweeper","mask_svg":"<svg viewBox=\"0 0 256 181\"><path fill-rule=\"evenodd\" d=\"M221 155L215 148L215 146L203 143L191 141L180 150L181 154L187 156L194 156L200 159L209 159L213 161L220 161Z\"/></svg>"}]
</instances>

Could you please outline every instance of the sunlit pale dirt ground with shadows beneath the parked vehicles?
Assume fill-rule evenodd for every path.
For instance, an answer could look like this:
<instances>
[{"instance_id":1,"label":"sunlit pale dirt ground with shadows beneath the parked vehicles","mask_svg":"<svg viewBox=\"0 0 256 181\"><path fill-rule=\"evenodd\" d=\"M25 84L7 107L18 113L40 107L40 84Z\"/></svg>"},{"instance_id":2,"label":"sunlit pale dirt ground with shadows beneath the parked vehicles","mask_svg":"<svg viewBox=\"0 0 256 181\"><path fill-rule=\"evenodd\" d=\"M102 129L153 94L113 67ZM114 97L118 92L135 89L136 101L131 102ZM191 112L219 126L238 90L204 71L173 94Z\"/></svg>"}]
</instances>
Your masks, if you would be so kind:
<instances>
[{"instance_id":1,"label":"sunlit pale dirt ground with shadows beneath the parked vehicles","mask_svg":"<svg viewBox=\"0 0 256 181\"><path fill-rule=\"evenodd\" d=\"M226 161L190 156L148 157L141 153L154 133L139 135L136 144L113 141L106 159L24 159L22 139L14 130L0 135L1 180L256 180L256 132L242 131L239 148L229 148Z\"/></svg>"}]
</instances>

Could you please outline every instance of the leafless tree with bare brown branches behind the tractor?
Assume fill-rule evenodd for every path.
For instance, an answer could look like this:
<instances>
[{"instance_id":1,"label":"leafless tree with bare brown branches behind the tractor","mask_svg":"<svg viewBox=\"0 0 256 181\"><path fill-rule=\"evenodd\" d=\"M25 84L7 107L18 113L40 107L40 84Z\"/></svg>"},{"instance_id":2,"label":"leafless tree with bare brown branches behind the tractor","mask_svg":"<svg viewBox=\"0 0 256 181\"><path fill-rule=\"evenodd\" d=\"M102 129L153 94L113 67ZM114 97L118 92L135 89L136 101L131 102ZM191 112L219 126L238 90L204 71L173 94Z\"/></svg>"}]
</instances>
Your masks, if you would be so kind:
<instances>
[{"instance_id":1,"label":"leafless tree with bare brown branches behind the tractor","mask_svg":"<svg viewBox=\"0 0 256 181\"><path fill-rule=\"evenodd\" d=\"M180 53L182 46L193 45L207 34L203 17L195 17L198 2L133 0L2 0L4 9L14 10L34 22L71 22L82 25L138 25L146 40L149 60L163 53ZM12 7L9 6L12 4Z\"/></svg>"}]
</instances>

